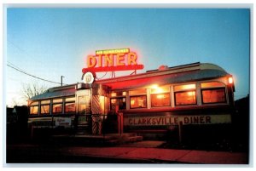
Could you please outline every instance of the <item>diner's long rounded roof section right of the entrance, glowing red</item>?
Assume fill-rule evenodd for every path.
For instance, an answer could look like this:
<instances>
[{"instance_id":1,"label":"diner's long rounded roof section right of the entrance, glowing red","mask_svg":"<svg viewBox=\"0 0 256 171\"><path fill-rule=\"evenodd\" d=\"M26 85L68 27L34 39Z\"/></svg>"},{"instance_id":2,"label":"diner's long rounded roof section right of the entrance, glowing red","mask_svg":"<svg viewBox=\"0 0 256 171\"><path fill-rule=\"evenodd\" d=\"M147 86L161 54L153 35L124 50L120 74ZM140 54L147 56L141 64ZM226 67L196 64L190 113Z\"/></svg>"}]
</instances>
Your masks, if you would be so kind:
<instances>
[{"instance_id":1,"label":"diner's long rounded roof section right of the entrance, glowing red","mask_svg":"<svg viewBox=\"0 0 256 171\"><path fill-rule=\"evenodd\" d=\"M164 69L163 69L164 68ZM126 77L115 77L96 81L108 85L114 90L142 88L150 84L186 83L230 75L223 68L208 63L193 63L175 67L160 67L159 70L147 71Z\"/></svg>"}]
</instances>

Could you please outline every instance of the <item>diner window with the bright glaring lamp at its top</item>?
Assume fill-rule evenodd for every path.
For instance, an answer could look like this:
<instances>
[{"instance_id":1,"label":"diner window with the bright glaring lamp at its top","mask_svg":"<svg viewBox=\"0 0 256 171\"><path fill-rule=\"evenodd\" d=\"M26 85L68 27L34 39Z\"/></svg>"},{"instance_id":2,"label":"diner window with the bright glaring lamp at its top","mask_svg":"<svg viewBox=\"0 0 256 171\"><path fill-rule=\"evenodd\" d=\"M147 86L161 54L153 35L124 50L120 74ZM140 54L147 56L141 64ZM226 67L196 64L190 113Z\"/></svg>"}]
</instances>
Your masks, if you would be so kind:
<instances>
[{"instance_id":1,"label":"diner window with the bright glaring lamp at its top","mask_svg":"<svg viewBox=\"0 0 256 171\"><path fill-rule=\"evenodd\" d=\"M151 93L151 106L152 107L161 107L171 105L170 100L170 87L163 86L150 89Z\"/></svg>"}]
</instances>

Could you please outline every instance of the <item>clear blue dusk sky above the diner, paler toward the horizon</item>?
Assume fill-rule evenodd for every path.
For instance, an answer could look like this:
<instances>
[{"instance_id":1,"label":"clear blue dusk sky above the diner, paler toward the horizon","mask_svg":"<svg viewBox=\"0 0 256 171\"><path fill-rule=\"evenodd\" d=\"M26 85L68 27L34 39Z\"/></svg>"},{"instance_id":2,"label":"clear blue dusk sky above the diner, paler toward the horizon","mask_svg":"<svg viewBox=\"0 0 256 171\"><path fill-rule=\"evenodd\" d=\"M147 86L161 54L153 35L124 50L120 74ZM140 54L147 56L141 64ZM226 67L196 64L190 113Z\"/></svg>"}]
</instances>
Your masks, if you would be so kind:
<instances>
[{"instance_id":1,"label":"clear blue dusk sky above the diner, paler toward the horizon","mask_svg":"<svg viewBox=\"0 0 256 171\"><path fill-rule=\"evenodd\" d=\"M236 99L249 94L249 9L8 8L6 17L6 63L37 77L78 83L88 54L131 48L145 66L138 72L208 62L235 77ZM8 66L3 73L7 105L21 100L22 83L58 86Z\"/></svg>"}]
</instances>

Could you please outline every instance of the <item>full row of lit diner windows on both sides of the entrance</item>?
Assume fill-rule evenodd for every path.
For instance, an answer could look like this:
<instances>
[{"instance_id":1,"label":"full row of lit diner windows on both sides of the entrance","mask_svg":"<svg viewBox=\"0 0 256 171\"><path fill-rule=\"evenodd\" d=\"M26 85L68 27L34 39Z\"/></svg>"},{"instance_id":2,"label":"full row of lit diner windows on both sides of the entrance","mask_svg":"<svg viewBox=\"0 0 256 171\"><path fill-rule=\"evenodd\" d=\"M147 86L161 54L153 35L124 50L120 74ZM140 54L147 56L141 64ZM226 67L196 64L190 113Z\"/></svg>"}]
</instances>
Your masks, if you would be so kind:
<instances>
[{"instance_id":1,"label":"full row of lit diner windows on both sides of the entrance","mask_svg":"<svg viewBox=\"0 0 256 171\"><path fill-rule=\"evenodd\" d=\"M201 83L201 102L202 104L226 103L225 85L219 82ZM196 105L196 84L183 84L171 87L152 86L150 88L151 107L171 106L171 95L173 88L174 105ZM126 92L113 92L110 94L111 110L119 106L119 109L127 109L126 97L130 99L130 109L147 108L147 89L137 89ZM50 105L51 104L51 105ZM76 111L75 97L60 98L51 100L33 101L30 104L30 114L38 115L40 106L40 114L61 114L73 113ZM51 111L50 111L51 110ZM64 111L63 111L64 110Z\"/></svg>"}]
</instances>

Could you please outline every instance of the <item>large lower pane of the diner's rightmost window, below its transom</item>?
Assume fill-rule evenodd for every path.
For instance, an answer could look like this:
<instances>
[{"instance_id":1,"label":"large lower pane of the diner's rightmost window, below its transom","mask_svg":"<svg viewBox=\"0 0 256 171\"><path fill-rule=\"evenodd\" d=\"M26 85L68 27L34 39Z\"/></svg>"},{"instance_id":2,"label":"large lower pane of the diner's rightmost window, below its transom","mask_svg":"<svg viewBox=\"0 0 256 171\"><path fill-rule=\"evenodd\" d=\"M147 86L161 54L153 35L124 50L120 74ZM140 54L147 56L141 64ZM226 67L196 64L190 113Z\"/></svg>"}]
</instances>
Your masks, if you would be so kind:
<instances>
[{"instance_id":1,"label":"large lower pane of the diner's rightmost window, below its transom","mask_svg":"<svg viewBox=\"0 0 256 171\"><path fill-rule=\"evenodd\" d=\"M225 88L202 89L201 95L204 104L226 102Z\"/></svg>"}]
</instances>

